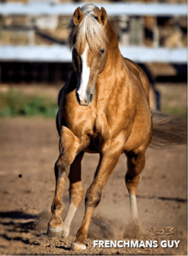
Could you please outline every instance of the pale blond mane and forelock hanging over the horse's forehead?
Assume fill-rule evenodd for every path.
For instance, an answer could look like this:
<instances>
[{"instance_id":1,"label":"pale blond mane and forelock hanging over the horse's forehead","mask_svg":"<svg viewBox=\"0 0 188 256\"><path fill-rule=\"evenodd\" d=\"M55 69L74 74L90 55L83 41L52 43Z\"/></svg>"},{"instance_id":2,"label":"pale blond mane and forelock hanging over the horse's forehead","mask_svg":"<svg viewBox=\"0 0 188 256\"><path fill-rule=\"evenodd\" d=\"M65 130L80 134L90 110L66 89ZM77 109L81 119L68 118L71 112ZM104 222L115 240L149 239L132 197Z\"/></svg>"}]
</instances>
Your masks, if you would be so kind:
<instances>
[{"instance_id":1,"label":"pale blond mane and forelock hanging over the horse's forehead","mask_svg":"<svg viewBox=\"0 0 188 256\"><path fill-rule=\"evenodd\" d=\"M70 49L75 45L77 50L82 52L87 41L91 51L95 55L106 46L107 36L104 28L97 20L97 13L100 11L94 4L83 5L80 10L84 18L78 26L74 24L73 18L69 26L68 46Z\"/></svg>"}]
</instances>

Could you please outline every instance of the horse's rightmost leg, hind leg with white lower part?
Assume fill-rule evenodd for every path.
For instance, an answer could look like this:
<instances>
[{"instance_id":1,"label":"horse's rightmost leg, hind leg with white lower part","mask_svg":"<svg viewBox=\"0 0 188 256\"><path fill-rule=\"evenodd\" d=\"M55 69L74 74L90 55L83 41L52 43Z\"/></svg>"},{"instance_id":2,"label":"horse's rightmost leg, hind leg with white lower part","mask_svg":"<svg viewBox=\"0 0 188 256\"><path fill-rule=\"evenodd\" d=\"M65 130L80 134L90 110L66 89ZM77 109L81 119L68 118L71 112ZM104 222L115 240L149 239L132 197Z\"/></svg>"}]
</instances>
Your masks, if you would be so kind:
<instances>
[{"instance_id":1,"label":"horse's rightmost leg, hind leg with white lower part","mask_svg":"<svg viewBox=\"0 0 188 256\"><path fill-rule=\"evenodd\" d=\"M139 216L137 211L136 202L136 190L139 181L139 174L145 166L145 153L139 153L136 155L127 155L127 173L125 176L125 182L129 191L130 206L131 206L131 218L134 222L139 222Z\"/></svg>"}]
</instances>

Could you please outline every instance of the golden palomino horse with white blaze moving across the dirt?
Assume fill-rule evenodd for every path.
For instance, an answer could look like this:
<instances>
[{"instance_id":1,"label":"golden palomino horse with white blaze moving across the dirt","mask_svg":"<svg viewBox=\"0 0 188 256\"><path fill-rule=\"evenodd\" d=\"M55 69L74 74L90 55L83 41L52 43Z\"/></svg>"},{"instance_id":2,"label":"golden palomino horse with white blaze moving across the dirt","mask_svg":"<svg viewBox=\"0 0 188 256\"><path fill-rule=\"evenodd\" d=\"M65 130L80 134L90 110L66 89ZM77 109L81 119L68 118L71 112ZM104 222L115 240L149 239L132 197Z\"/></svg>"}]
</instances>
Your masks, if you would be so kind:
<instances>
[{"instance_id":1,"label":"golden palomino horse with white blaze moving across the dirt","mask_svg":"<svg viewBox=\"0 0 188 256\"><path fill-rule=\"evenodd\" d=\"M137 64L121 55L105 9L93 4L78 7L69 31L74 70L58 96L59 157L55 163L56 188L48 236L69 235L71 221L83 197L83 154L99 153L94 180L86 193L84 218L71 246L73 250L84 250L93 211L122 153L127 156L125 182L131 215L134 221L138 220L136 188L153 136L153 121L148 79ZM154 131L160 131L167 121L162 125L157 121L158 130L154 123ZM159 140L157 136L153 137L154 145L163 144L160 132ZM62 192L67 177L70 205L62 222Z\"/></svg>"}]
</instances>

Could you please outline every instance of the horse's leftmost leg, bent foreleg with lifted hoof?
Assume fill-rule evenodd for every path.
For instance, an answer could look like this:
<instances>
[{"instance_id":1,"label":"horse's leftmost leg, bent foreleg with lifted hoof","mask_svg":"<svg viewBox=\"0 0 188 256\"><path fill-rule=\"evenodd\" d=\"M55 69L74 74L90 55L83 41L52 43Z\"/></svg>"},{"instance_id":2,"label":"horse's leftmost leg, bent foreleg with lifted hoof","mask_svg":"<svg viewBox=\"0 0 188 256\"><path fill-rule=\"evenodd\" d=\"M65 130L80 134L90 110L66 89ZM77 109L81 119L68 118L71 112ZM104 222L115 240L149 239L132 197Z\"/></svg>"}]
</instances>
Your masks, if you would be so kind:
<instances>
[{"instance_id":1,"label":"horse's leftmost leg, bent foreleg with lifted hoof","mask_svg":"<svg viewBox=\"0 0 188 256\"><path fill-rule=\"evenodd\" d=\"M63 222L61 212L63 210L62 193L63 185L69 175L70 166L73 163L80 143L78 138L67 128L62 128L59 142L59 157L55 163L56 187L51 211L52 217L48 224L47 235L49 237L59 237L63 235Z\"/></svg>"}]
</instances>

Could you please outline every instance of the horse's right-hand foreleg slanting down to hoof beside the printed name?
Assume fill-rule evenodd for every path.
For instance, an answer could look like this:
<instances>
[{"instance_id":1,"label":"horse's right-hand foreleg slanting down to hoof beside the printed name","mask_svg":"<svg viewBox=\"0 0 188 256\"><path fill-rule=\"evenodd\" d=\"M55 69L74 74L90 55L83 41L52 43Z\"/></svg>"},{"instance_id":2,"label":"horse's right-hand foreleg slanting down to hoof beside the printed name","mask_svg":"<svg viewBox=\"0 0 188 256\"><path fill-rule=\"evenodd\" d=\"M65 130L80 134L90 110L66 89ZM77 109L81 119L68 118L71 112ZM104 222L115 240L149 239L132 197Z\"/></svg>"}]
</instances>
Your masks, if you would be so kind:
<instances>
[{"instance_id":1,"label":"horse's right-hand foreleg slanting down to hoof beside the printed name","mask_svg":"<svg viewBox=\"0 0 188 256\"><path fill-rule=\"evenodd\" d=\"M88 236L88 227L93 214L94 209L98 206L101 198L102 189L110 177L115 165L118 162L120 152L114 154L105 154L100 156L100 161L95 172L94 180L87 190L85 199L85 214L76 234L76 240L72 243L72 250L85 250L86 245L84 240Z\"/></svg>"}]
</instances>

